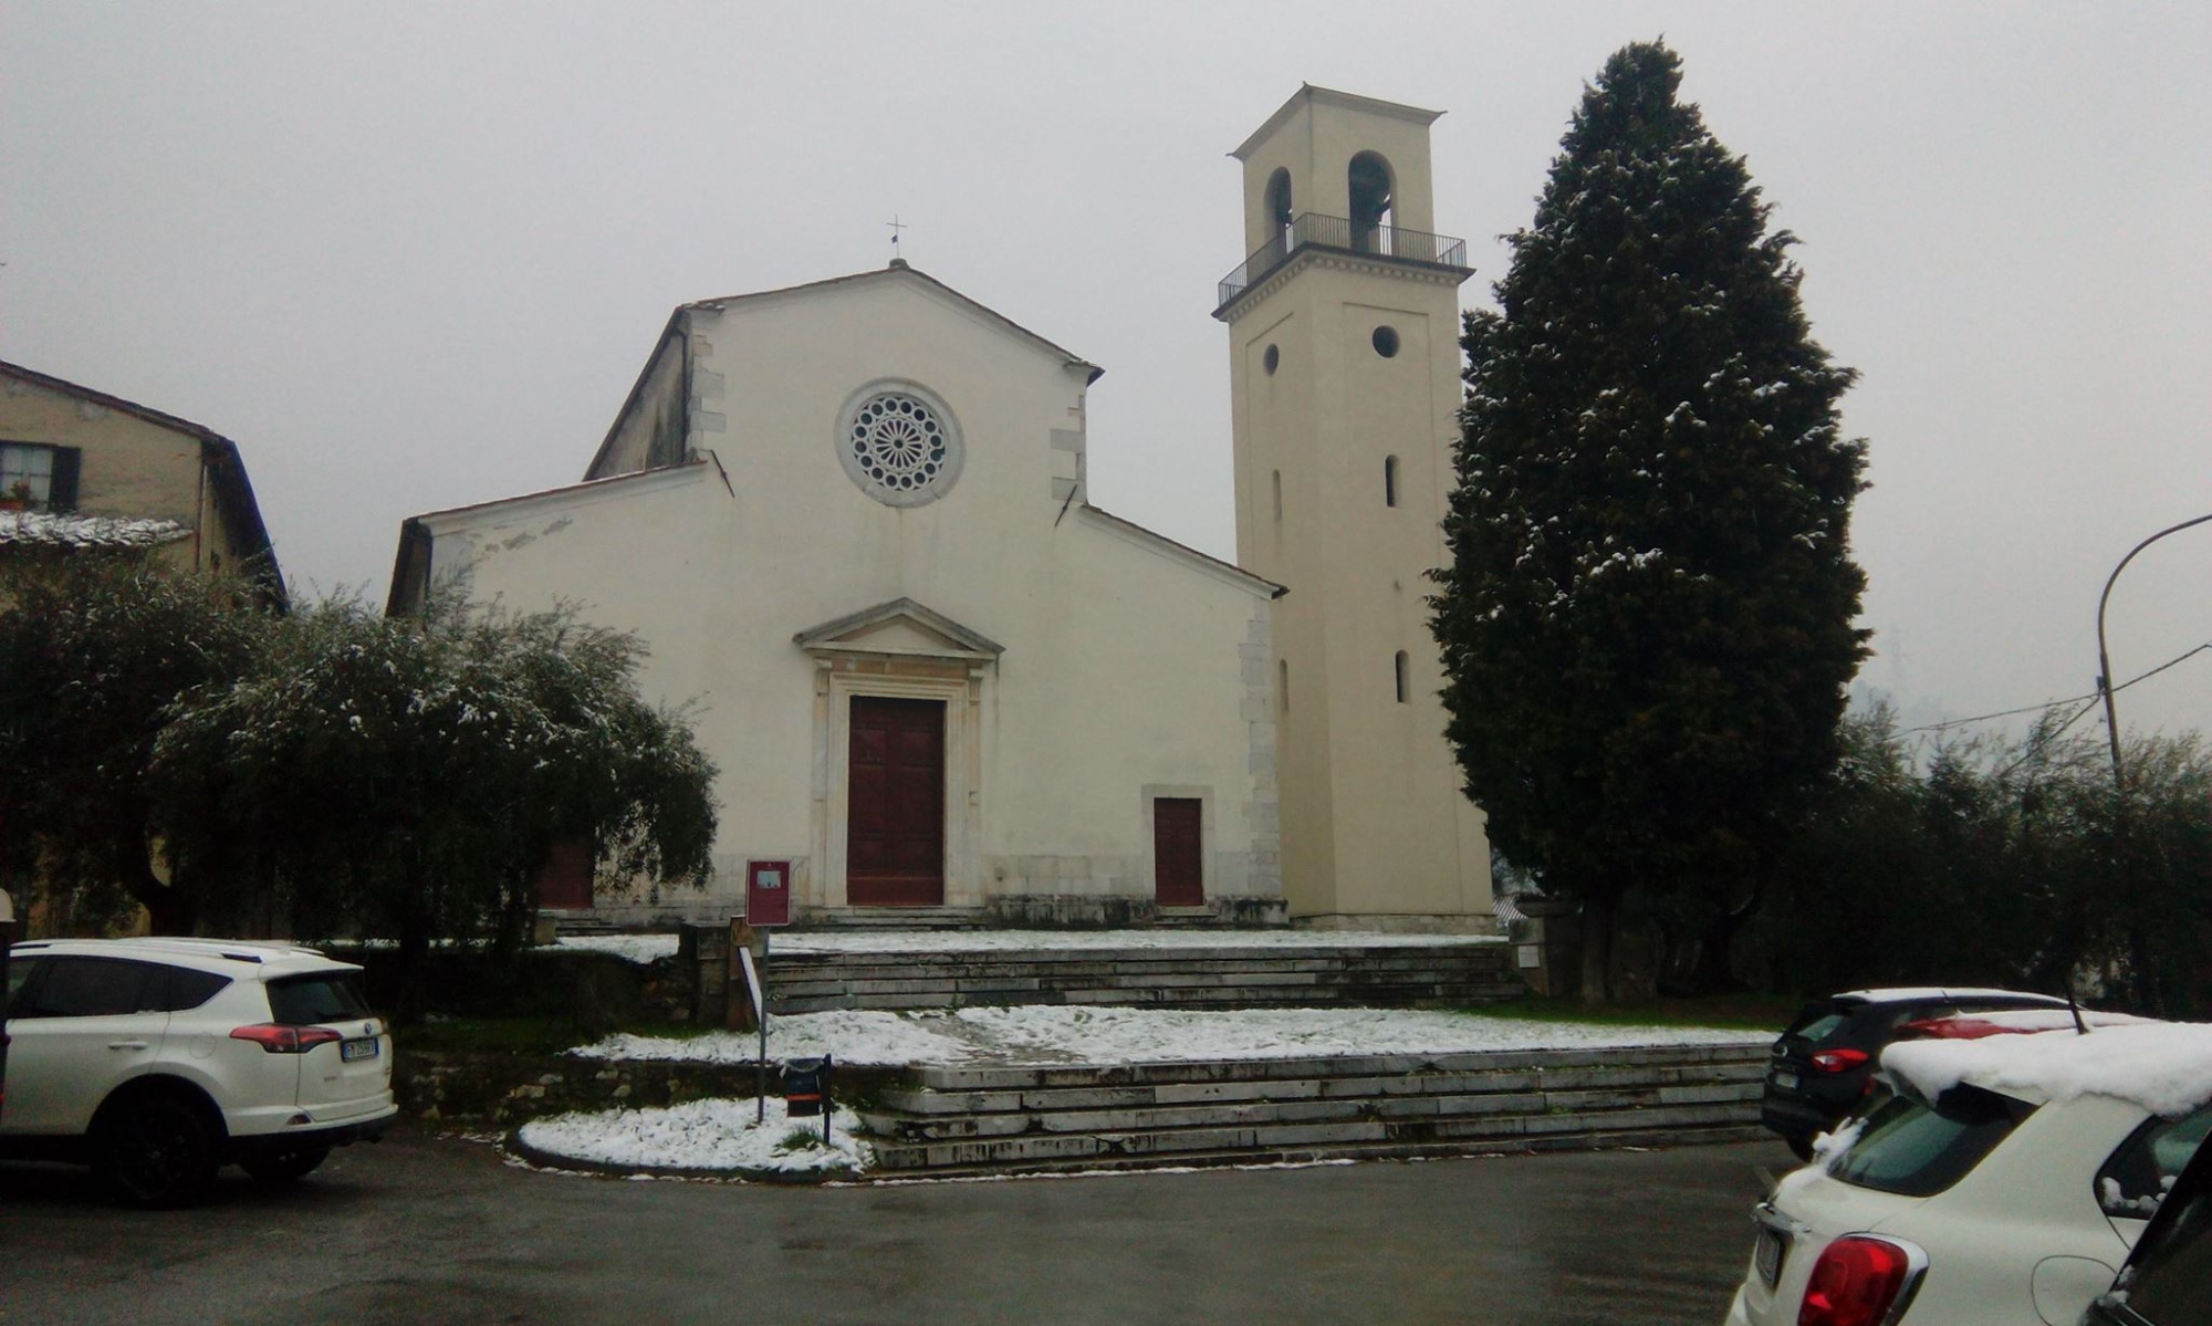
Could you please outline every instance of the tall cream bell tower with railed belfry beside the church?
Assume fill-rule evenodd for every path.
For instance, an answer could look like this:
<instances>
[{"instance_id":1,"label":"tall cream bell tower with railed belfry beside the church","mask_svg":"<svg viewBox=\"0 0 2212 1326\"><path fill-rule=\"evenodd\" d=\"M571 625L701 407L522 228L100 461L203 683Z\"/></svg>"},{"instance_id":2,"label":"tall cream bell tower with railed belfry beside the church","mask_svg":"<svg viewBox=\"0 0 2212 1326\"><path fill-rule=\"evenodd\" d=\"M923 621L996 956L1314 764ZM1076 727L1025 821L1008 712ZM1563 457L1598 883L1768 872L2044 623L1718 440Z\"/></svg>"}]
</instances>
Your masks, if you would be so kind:
<instances>
[{"instance_id":1,"label":"tall cream bell tower with railed belfry beside the church","mask_svg":"<svg viewBox=\"0 0 2212 1326\"><path fill-rule=\"evenodd\" d=\"M1307 84L1232 152L1252 256L1214 316L1237 561L1290 588L1272 659L1283 895L1316 926L1495 924L1427 606L1471 274L1464 241L1433 232L1438 115Z\"/></svg>"}]
</instances>

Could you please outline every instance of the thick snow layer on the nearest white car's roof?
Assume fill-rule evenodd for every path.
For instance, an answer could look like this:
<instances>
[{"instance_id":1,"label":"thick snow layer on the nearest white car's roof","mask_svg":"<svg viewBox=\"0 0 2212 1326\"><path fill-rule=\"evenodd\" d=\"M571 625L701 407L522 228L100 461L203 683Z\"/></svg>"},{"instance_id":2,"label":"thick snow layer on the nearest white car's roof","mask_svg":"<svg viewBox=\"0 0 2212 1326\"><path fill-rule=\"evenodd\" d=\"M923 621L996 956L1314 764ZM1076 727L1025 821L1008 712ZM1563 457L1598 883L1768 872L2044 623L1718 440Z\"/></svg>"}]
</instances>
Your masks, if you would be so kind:
<instances>
[{"instance_id":1,"label":"thick snow layer on the nearest white car's roof","mask_svg":"<svg viewBox=\"0 0 2212 1326\"><path fill-rule=\"evenodd\" d=\"M2048 1101L2117 1096L2179 1118L2212 1101L2212 1025L2132 1023L2088 1036L2059 1030L1982 1041L1900 1041L1882 1050L1882 1067L1927 1098L1971 1081Z\"/></svg>"}]
</instances>

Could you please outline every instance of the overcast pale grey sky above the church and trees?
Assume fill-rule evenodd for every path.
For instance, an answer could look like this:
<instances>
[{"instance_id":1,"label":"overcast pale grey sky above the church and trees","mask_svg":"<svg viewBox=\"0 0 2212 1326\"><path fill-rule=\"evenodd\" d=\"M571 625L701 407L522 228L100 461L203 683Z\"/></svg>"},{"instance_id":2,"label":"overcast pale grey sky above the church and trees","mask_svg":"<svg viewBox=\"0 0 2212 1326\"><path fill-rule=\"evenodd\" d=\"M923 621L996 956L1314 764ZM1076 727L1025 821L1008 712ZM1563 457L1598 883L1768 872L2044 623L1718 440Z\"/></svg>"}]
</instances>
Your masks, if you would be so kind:
<instances>
[{"instance_id":1,"label":"overcast pale grey sky above the church and trees","mask_svg":"<svg viewBox=\"0 0 2212 1326\"><path fill-rule=\"evenodd\" d=\"M20 4L0 358L234 438L285 572L573 482L677 303L907 256L1106 365L1093 497L1234 555L1225 152L1301 82L1447 110L1489 301L1582 84L1666 35L1865 378L1854 544L1916 718L2084 694L2212 513L2208 4ZM2112 599L2212 641L2212 526ZM2121 696L2212 729L2212 652ZM2088 720L2084 720L2088 723Z\"/></svg>"}]
</instances>

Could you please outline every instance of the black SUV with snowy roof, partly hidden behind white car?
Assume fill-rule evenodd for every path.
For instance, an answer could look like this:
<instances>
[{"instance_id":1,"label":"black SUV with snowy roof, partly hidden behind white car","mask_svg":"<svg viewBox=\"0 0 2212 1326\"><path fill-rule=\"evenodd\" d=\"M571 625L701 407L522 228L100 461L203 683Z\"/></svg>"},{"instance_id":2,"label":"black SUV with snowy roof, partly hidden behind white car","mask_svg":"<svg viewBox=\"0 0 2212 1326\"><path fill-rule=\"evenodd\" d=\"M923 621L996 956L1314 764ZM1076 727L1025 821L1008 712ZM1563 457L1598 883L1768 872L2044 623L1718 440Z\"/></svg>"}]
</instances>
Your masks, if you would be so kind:
<instances>
[{"instance_id":1,"label":"black SUV with snowy roof, partly hidden behind white car","mask_svg":"<svg viewBox=\"0 0 2212 1326\"><path fill-rule=\"evenodd\" d=\"M1809 1158L1812 1140L1874 1090L1882 1045L1898 1039L1898 1028L2008 1008L2066 1008L2066 1001L2020 990L1905 988L1851 990L1807 1003L1774 1041L1759 1123L1781 1134L1798 1158Z\"/></svg>"}]
</instances>

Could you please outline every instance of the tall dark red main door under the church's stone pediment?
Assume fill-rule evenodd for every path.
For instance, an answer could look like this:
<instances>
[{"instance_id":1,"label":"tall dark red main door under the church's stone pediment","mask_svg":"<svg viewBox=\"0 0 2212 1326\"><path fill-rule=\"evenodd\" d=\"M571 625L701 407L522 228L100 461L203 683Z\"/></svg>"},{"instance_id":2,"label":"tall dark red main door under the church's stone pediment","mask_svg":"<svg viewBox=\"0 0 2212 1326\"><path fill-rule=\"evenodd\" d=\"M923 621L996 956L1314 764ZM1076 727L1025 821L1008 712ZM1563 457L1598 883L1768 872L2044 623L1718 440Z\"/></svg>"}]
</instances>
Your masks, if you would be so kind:
<instances>
[{"instance_id":1,"label":"tall dark red main door under the church's stone pediment","mask_svg":"<svg viewBox=\"0 0 2212 1326\"><path fill-rule=\"evenodd\" d=\"M852 906L945 906L945 701L852 698Z\"/></svg>"}]
</instances>

